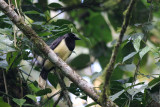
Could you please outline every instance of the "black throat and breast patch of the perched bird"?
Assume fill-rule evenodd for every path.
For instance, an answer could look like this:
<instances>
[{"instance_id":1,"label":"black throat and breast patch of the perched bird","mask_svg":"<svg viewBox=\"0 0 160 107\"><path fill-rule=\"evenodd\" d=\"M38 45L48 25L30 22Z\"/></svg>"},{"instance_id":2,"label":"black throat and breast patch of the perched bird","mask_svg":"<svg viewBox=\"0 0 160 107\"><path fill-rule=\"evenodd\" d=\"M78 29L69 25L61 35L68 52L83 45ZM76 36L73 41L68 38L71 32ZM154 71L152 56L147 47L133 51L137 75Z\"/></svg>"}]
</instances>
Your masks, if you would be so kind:
<instances>
[{"instance_id":1,"label":"black throat and breast patch of the perched bird","mask_svg":"<svg viewBox=\"0 0 160 107\"><path fill-rule=\"evenodd\" d=\"M73 51L75 48L75 40L73 38L67 37L65 39L66 45L70 51Z\"/></svg>"}]
</instances>

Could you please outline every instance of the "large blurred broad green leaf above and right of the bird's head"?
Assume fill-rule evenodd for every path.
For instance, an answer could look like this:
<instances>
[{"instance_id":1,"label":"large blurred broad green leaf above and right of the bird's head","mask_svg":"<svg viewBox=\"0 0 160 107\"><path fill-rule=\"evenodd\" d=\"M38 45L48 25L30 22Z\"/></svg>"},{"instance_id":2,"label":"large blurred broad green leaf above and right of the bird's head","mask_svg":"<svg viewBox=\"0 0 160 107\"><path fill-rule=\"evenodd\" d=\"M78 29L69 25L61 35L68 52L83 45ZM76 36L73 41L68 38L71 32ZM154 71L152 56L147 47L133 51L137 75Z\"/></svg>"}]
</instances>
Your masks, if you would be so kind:
<instances>
[{"instance_id":1,"label":"large blurred broad green leaf above and right of the bird's head","mask_svg":"<svg viewBox=\"0 0 160 107\"><path fill-rule=\"evenodd\" d=\"M104 41L106 43L110 42L112 40L111 30L102 14L92 11L89 11L88 13L89 16L85 19L85 21L87 21L87 24L83 25L85 36L89 37L93 46L101 41Z\"/></svg>"}]
</instances>

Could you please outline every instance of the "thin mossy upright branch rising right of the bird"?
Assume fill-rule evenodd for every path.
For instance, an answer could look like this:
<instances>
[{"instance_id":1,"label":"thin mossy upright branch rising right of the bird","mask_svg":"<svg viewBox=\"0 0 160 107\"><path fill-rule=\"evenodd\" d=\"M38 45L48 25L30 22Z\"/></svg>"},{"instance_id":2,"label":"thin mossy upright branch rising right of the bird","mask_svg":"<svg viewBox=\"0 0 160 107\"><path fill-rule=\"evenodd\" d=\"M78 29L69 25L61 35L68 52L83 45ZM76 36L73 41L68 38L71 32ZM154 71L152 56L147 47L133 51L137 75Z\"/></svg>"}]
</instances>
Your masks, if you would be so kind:
<instances>
[{"instance_id":1,"label":"thin mossy upright branch rising right of the bird","mask_svg":"<svg viewBox=\"0 0 160 107\"><path fill-rule=\"evenodd\" d=\"M129 24L131 13L132 13L132 10L133 10L133 7L134 7L136 1L137 0L131 0L130 3L129 3L128 8L124 12L125 16L124 16L124 21L123 21L123 24L122 24L122 30L120 32L117 44L114 47L110 62L105 68L106 74L105 74L105 80L104 80L104 85L103 85L103 92L102 92L102 96L101 96L102 97L102 106L103 107L107 106L107 103L106 103L106 101L107 101L106 90L109 89L108 88L109 80L111 78L111 75L112 75L112 72L113 72L113 69L114 69L117 53L118 53L119 47L120 47L120 45L122 43L122 38L124 36L124 33L126 32L127 26Z\"/></svg>"}]
</instances>

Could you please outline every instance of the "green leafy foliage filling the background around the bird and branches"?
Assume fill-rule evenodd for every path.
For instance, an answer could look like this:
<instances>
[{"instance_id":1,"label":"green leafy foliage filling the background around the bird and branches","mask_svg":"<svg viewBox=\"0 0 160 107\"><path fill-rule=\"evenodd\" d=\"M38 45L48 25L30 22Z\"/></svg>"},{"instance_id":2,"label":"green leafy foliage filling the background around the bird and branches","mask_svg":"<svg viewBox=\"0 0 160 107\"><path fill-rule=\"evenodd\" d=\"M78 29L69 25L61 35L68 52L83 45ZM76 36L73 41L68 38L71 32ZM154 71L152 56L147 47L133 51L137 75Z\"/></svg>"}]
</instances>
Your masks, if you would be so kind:
<instances>
[{"instance_id":1,"label":"green leafy foliage filling the background around the bird and branches","mask_svg":"<svg viewBox=\"0 0 160 107\"><path fill-rule=\"evenodd\" d=\"M61 2L47 4L46 1L42 3L42 0L37 3L17 0L17 4L15 1L12 4L15 11L24 17L26 24L48 45L69 32L79 36L82 40L76 45L82 49L75 52L76 57L71 58L69 65L84 78L89 78L88 81L101 92L104 79L102 75L117 43L123 15L130 0L59 1ZM157 72L160 68L159 3L159 0L139 0L134 7L110 80L109 99L120 107L160 106L160 77ZM51 17L53 11L61 14L65 12L65 16ZM44 106L55 104L50 97L64 89L60 89L57 75L49 73L48 88L40 90L35 80L42 68L35 69L35 55L41 55L41 52L0 11L0 106L37 106L37 102ZM92 69L92 66L97 66L94 62L100 65L100 72L97 72L97 67ZM3 72L10 97L4 94L6 83ZM65 78L64 81L69 84ZM77 85L70 83L66 89L76 97L87 100L87 93ZM50 94L53 96L47 99L46 95ZM41 97L40 102L38 96ZM10 105L7 103L8 98ZM86 107L95 104L93 102Z\"/></svg>"}]
</instances>

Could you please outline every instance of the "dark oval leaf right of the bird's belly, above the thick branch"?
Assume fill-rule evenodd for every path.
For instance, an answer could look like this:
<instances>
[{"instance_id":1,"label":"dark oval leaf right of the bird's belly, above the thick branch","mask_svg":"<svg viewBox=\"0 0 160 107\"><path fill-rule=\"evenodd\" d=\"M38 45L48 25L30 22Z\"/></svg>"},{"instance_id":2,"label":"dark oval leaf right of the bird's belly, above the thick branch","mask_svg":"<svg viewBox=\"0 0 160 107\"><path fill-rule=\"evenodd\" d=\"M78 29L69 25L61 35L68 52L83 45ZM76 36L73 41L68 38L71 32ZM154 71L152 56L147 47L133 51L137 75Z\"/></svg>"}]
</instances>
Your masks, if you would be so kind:
<instances>
[{"instance_id":1,"label":"dark oval leaf right of the bird's belly, above the thick branch","mask_svg":"<svg viewBox=\"0 0 160 107\"><path fill-rule=\"evenodd\" d=\"M88 54L80 54L70 62L70 65L75 69L83 69L88 66L89 62L90 56Z\"/></svg>"}]
</instances>

